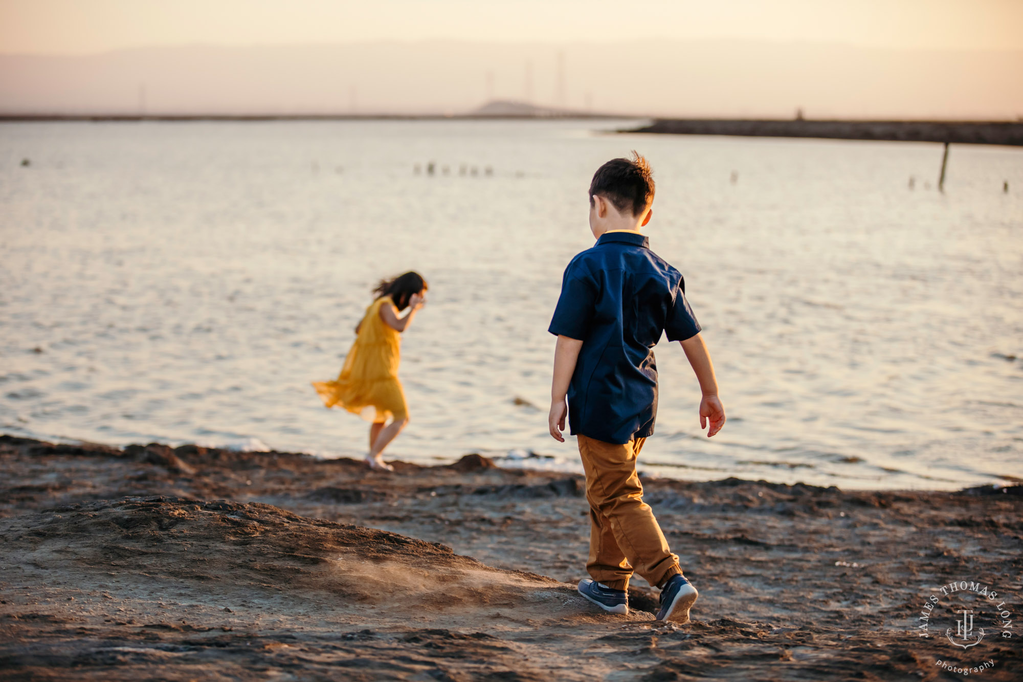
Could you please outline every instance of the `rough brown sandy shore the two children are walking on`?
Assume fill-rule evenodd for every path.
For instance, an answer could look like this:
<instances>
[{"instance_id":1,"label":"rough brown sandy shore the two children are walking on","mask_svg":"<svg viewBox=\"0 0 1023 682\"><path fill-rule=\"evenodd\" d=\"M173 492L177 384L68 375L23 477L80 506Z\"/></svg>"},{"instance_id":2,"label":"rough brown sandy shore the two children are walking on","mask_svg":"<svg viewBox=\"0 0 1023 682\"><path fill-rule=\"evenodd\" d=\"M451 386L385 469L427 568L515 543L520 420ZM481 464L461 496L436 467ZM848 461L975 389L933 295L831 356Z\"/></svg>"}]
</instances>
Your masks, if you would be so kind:
<instances>
[{"instance_id":1,"label":"rough brown sandy shore the two children are walking on","mask_svg":"<svg viewBox=\"0 0 1023 682\"><path fill-rule=\"evenodd\" d=\"M911 632L932 588L983 581L1021 611L1019 486L648 480L702 594L673 626L639 579L628 616L575 593L579 477L395 465L0 436L0 676L959 679ZM1016 630L982 679L1023 677Z\"/></svg>"}]
</instances>

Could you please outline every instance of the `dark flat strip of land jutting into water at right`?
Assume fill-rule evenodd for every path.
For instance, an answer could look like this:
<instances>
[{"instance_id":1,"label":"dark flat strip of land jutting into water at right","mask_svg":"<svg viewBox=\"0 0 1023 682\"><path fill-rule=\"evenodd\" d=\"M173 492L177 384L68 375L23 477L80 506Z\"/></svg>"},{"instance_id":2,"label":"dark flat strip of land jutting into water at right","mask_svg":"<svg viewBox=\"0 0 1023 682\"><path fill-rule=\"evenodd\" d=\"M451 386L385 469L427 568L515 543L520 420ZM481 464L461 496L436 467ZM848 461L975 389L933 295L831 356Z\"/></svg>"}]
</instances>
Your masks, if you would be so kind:
<instances>
[{"instance_id":1,"label":"dark flat strip of land jutting into water at right","mask_svg":"<svg viewBox=\"0 0 1023 682\"><path fill-rule=\"evenodd\" d=\"M649 126L619 132L1023 146L1023 123L1010 121L657 119Z\"/></svg>"}]
</instances>

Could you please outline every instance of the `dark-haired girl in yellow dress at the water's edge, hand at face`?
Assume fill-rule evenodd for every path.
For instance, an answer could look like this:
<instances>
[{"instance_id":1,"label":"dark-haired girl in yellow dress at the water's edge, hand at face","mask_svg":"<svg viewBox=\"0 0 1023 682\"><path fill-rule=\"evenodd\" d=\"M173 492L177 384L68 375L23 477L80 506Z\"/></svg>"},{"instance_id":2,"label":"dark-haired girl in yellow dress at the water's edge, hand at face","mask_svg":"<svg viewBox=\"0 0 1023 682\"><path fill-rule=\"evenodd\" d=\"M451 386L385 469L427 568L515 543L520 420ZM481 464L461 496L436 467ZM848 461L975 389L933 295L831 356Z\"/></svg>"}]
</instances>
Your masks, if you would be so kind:
<instances>
[{"instance_id":1,"label":"dark-haired girl in yellow dress at the water's edge, hand at face","mask_svg":"<svg viewBox=\"0 0 1023 682\"><path fill-rule=\"evenodd\" d=\"M382 281L373 290L376 300L355 328L355 343L338 379L313 382L327 408L338 406L372 422L366 464L373 469L394 471L384 463L382 453L408 424L405 391L398 381L398 334L408 329L415 312L426 304L426 292L427 283L417 272ZM405 308L408 314L399 317Z\"/></svg>"}]
</instances>

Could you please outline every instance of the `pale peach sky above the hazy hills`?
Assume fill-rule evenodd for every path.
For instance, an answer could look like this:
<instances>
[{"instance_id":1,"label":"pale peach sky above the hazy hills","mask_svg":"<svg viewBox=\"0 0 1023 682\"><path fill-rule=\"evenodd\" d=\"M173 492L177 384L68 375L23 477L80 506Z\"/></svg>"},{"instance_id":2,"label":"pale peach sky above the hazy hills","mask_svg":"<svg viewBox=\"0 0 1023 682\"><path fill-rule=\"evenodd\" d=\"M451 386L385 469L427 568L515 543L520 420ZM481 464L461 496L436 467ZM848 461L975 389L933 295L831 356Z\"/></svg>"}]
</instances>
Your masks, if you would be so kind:
<instances>
[{"instance_id":1,"label":"pale peach sky above the hazy hills","mask_svg":"<svg viewBox=\"0 0 1023 682\"><path fill-rule=\"evenodd\" d=\"M0 0L4 53L647 37L1023 49L1023 0Z\"/></svg>"}]
</instances>

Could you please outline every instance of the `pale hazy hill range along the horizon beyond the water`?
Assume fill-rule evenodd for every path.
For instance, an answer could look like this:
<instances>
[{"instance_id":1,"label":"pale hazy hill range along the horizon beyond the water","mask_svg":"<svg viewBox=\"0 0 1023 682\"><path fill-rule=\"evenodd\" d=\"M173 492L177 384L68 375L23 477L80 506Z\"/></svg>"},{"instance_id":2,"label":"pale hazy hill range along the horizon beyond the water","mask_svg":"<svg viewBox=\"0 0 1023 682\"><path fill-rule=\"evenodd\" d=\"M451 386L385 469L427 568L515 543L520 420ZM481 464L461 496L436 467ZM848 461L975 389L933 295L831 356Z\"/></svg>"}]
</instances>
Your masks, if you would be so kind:
<instances>
[{"instance_id":1,"label":"pale hazy hill range along the horizon beyond the water","mask_svg":"<svg viewBox=\"0 0 1023 682\"><path fill-rule=\"evenodd\" d=\"M183 45L0 54L0 114L790 119L802 108L808 119L1016 120L1020 83L1023 51L751 40Z\"/></svg>"}]
</instances>

